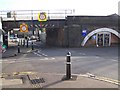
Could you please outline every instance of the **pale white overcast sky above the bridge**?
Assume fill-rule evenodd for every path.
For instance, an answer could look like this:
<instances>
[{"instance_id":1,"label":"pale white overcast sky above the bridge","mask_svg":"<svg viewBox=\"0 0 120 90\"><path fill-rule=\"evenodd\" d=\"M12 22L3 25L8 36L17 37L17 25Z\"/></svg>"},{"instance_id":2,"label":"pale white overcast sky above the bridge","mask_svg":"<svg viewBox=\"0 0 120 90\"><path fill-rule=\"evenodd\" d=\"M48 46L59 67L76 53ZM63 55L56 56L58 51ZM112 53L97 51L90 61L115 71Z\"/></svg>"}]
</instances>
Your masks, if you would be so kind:
<instances>
[{"instance_id":1,"label":"pale white overcast sky above the bridge","mask_svg":"<svg viewBox=\"0 0 120 90\"><path fill-rule=\"evenodd\" d=\"M0 10L75 9L76 15L118 14L120 0L0 0Z\"/></svg>"}]
</instances>

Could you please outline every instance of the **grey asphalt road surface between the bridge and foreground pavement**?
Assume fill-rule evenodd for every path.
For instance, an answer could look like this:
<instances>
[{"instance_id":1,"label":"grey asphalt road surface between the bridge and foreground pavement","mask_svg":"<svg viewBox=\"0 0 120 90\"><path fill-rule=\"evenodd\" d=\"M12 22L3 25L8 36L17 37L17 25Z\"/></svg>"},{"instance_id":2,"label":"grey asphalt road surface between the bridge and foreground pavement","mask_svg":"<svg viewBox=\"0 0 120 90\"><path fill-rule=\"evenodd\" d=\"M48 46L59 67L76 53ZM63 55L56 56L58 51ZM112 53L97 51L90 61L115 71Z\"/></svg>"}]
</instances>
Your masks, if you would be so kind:
<instances>
[{"instance_id":1,"label":"grey asphalt road surface between the bridge and foreground pavement","mask_svg":"<svg viewBox=\"0 0 120 90\"><path fill-rule=\"evenodd\" d=\"M33 71L66 73L66 55L71 52L72 74L91 73L118 79L118 47L44 48L2 61L2 72Z\"/></svg>"}]
</instances>

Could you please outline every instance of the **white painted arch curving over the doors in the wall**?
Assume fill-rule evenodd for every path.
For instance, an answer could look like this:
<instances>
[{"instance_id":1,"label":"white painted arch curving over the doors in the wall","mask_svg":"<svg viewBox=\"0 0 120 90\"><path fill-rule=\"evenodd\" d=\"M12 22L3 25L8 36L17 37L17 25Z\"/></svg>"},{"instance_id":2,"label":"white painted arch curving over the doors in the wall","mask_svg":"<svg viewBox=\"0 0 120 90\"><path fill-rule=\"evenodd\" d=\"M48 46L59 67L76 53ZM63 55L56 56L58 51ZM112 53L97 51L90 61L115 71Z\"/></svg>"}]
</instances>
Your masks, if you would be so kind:
<instances>
[{"instance_id":1,"label":"white painted arch curving over the doors in the wall","mask_svg":"<svg viewBox=\"0 0 120 90\"><path fill-rule=\"evenodd\" d=\"M115 34L116 36L118 36L120 38L120 33L118 33L116 30L113 30L111 28L99 28L99 29L96 29L96 30L90 32L84 38L83 42L81 43L81 46L84 46L91 36L93 36L96 33L100 33L100 32L110 32L110 33L113 33L113 34Z\"/></svg>"}]
</instances>

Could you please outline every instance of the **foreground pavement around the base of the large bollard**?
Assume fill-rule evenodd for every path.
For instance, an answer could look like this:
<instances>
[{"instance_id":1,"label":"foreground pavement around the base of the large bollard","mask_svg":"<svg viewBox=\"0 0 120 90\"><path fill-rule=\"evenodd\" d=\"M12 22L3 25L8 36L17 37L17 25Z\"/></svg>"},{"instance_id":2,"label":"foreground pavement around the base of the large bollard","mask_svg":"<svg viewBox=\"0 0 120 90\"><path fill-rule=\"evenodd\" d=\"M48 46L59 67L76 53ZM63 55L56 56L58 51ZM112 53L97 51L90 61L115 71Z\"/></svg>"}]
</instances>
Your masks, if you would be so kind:
<instances>
[{"instance_id":1,"label":"foreground pavement around the base of the large bollard","mask_svg":"<svg viewBox=\"0 0 120 90\"><path fill-rule=\"evenodd\" d=\"M13 76L4 75L1 80L6 82L2 83L3 88L118 88L115 83L97 80L88 75L72 75L70 80L65 80L65 77L63 74L55 73L22 72ZM11 81L11 79L13 80ZM11 84L10 82L13 81L14 83Z\"/></svg>"}]
</instances>

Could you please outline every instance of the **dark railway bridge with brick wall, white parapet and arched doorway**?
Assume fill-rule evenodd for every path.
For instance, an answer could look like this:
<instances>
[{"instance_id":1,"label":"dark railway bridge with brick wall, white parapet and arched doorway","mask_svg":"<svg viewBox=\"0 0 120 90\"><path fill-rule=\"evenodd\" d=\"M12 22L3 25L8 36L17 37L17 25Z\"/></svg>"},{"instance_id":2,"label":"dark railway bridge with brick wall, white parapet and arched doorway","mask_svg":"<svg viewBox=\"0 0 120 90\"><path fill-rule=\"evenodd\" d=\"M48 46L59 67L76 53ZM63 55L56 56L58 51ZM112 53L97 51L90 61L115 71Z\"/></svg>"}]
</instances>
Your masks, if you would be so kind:
<instances>
[{"instance_id":1,"label":"dark railway bridge with brick wall, white parapet and arched doorway","mask_svg":"<svg viewBox=\"0 0 120 90\"><path fill-rule=\"evenodd\" d=\"M32 13L31 13L32 12ZM72 10L53 13L48 11L47 21L38 20L40 11L16 11L7 17L2 17L1 30L3 42L8 46L8 36L16 34L18 38L40 36L44 33L48 46L56 47L82 47L82 46L112 46L117 45L120 38L119 16L76 16ZM18 17L17 16L18 13ZM1 14L4 15L4 14ZM27 17L25 17L27 16ZM20 25L25 23L28 32L20 32Z\"/></svg>"}]
</instances>

